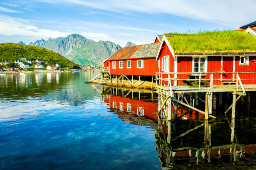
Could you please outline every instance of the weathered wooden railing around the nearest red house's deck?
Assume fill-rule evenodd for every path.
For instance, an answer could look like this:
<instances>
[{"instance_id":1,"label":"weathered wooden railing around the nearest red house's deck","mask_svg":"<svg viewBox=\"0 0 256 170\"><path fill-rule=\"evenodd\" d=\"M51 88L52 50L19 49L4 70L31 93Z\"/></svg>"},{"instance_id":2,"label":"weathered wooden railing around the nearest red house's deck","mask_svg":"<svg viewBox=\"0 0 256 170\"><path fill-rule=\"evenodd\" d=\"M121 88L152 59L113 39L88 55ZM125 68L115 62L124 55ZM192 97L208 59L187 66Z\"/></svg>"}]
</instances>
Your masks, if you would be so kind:
<instances>
[{"instance_id":1,"label":"weathered wooden railing around the nearest red house's deck","mask_svg":"<svg viewBox=\"0 0 256 170\"><path fill-rule=\"evenodd\" d=\"M235 77L235 75L236 75L236 78L214 78L215 74L221 75L221 77L224 74L225 75L232 74L232 77ZM182 81L182 82L183 81L197 81L198 86L195 86L195 87L198 87L199 90L201 88L201 81L206 81L206 80L209 81L208 84L210 84L209 87L211 89L213 88L213 81L215 81L215 80L223 81L223 82L230 81L230 82L236 83L237 91L238 91L238 83L239 83L241 86L241 89L244 92L244 88L243 88L243 84L242 84L241 80L256 80L256 78L241 79L239 77L239 75L242 75L242 74L249 74L250 75L249 77L251 77L251 75L255 75L256 72L199 72L199 73L196 73L196 72L156 72L155 80L156 80L156 86L159 86L159 87L168 86L168 89L170 91L172 91L172 84L174 86L177 86L178 81ZM173 76L170 77L171 75L173 75ZM178 75L197 75L197 77L199 76L199 78L198 79L180 79L178 77ZM210 75L210 79L209 78L202 79L202 77L201 77L202 75L204 75L204 76ZM171 92L171 94L172 94L172 92Z\"/></svg>"}]
</instances>

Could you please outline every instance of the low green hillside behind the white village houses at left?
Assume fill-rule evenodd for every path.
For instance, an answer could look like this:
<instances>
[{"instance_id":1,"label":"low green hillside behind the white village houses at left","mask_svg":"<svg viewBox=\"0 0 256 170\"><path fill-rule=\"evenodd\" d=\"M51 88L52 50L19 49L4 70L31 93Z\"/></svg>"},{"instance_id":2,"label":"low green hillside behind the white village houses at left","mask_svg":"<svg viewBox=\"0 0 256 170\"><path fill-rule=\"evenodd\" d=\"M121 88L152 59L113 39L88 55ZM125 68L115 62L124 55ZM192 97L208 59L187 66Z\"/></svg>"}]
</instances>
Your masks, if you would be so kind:
<instances>
[{"instance_id":1,"label":"low green hillside behind the white village houses at left","mask_svg":"<svg viewBox=\"0 0 256 170\"><path fill-rule=\"evenodd\" d=\"M21 45L16 43L0 43L0 62L4 60L20 59L21 57L33 60L44 60L48 65L61 64L62 67L73 67L76 64L60 54L43 47Z\"/></svg>"}]
</instances>

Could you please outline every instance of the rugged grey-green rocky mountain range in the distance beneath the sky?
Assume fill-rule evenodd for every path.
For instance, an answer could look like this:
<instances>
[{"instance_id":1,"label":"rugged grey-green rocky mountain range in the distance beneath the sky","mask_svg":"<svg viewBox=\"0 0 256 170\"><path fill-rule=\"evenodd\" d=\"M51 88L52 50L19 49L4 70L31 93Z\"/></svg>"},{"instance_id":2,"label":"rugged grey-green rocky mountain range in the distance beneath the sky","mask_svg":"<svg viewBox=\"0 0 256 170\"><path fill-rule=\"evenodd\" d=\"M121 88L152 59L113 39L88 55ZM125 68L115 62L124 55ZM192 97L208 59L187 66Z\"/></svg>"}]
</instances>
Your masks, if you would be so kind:
<instances>
[{"instance_id":1,"label":"rugged grey-green rocky mountain range in the distance beneath the sky","mask_svg":"<svg viewBox=\"0 0 256 170\"><path fill-rule=\"evenodd\" d=\"M103 40L95 42L79 34L37 40L29 45L44 47L63 55L72 62L84 65L100 64L101 61L121 48L120 45L113 42Z\"/></svg>"}]
</instances>

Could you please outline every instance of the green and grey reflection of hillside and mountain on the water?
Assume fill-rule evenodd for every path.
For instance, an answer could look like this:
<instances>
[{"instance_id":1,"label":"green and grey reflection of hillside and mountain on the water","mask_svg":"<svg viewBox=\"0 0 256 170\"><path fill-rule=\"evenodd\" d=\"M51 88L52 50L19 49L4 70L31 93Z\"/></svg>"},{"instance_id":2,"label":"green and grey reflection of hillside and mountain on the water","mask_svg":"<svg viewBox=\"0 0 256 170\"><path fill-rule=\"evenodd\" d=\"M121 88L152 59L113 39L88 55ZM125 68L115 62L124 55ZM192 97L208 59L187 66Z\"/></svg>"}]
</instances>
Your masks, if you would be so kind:
<instances>
[{"instance_id":1,"label":"green and grey reflection of hillside and mountain on the water","mask_svg":"<svg viewBox=\"0 0 256 170\"><path fill-rule=\"evenodd\" d=\"M82 105L100 93L84 81L97 72L59 72L36 74L9 74L0 77L0 98L26 100L29 98L47 101L66 101L71 105Z\"/></svg>"}]
</instances>

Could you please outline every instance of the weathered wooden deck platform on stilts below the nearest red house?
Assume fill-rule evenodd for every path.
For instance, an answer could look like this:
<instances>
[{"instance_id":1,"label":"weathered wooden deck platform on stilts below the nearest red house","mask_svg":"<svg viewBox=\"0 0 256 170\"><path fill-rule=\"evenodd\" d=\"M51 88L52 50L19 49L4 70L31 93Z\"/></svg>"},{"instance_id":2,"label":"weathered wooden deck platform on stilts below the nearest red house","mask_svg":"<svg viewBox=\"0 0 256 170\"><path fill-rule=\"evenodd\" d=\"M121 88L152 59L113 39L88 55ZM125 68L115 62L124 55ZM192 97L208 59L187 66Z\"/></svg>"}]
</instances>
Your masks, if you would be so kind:
<instances>
[{"instance_id":1,"label":"weathered wooden deck platform on stilts below the nearest red house","mask_svg":"<svg viewBox=\"0 0 256 170\"><path fill-rule=\"evenodd\" d=\"M243 85L244 90L247 92L256 91L256 85ZM170 87L167 86L156 86L156 90L159 92L163 91L168 92ZM237 91L236 85L213 85L212 88L210 87L191 87L191 86L172 86L172 92L179 93L179 92L234 92ZM242 92L241 87L238 87L238 92Z\"/></svg>"}]
</instances>

